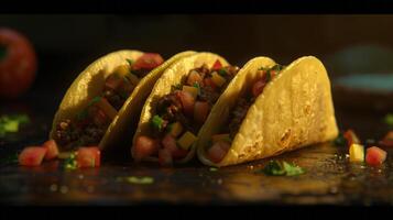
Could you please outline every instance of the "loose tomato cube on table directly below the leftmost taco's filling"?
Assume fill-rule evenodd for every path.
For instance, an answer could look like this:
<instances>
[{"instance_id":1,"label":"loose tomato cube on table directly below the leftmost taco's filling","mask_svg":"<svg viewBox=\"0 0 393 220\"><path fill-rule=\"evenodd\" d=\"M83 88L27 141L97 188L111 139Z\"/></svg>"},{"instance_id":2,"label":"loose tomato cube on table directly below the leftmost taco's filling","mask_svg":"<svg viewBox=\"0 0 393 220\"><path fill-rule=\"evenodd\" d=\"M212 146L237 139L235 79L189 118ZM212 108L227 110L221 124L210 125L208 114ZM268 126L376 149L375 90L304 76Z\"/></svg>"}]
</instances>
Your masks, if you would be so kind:
<instances>
[{"instance_id":1,"label":"loose tomato cube on table directly below the leftmost taco's filling","mask_svg":"<svg viewBox=\"0 0 393 220\"><path fill-rule=\"evenodd\" d=\"M101 152L97 146L79 147L76 154L78 167L98 167L100 166Z\"/></svg>"}]
</instances>

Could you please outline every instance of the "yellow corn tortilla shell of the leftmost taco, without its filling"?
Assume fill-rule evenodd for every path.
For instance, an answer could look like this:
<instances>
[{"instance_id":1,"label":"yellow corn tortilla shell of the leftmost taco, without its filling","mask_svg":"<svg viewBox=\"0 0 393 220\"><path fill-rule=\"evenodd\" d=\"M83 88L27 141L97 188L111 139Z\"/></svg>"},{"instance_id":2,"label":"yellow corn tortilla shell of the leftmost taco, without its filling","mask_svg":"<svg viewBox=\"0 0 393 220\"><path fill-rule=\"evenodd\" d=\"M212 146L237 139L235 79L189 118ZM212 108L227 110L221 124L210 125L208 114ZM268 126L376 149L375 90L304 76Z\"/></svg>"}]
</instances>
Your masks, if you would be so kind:
<instances>
[{"instance_id":1,"label":"yellow corn tortilla shell of the leftmost taco, without its filling","mask_svg":"<svg viewBox=\"0 0 393 220\"><path fill-rule=\"evenodd\" d=\"M105 86L105 79L108 75L110 75L118 66L128 64L127 59L137 61L143 54L144 53L140 51L123 50L102 56L90 64L81 74L79 74L65 94L53 120L50 138L54 138L56 124L61 120L73 119L78 112L87 107L92 98L101 94ZM144 100L164 69L175 61L192 54L195 54L195 52L188 51L176 54L140 79L138 86L108 127L99 143L100 150L112 147L120 140L127 141L127 139L123 138L124 134L132 135L133 124L138 121ZM124 142L122 143L125 144ZM62 146L59 146L59 148L62 150Z\"/></svg>"}]
</instances>

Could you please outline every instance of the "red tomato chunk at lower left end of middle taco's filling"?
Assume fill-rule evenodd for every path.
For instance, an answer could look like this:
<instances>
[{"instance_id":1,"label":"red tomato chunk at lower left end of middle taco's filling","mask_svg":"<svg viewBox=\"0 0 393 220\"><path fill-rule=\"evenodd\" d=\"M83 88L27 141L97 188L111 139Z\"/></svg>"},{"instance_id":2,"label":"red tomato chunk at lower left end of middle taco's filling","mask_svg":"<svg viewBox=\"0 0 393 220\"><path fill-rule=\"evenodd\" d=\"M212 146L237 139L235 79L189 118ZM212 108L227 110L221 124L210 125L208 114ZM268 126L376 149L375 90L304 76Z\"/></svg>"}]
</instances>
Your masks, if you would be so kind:
<instances>
[{"instance_id":1,"label":"red tomato chunk at lower left end of middle taco's filling","mask_svg":"<svg viewBox=\"0 0 393 220\"><path fill-rule=\"evenodd\" d=\"M157 141L149 136L138 136L134 145L134 158L141 161L144 157L152 156L159 151Z\"/></svg>"}]
</instances>

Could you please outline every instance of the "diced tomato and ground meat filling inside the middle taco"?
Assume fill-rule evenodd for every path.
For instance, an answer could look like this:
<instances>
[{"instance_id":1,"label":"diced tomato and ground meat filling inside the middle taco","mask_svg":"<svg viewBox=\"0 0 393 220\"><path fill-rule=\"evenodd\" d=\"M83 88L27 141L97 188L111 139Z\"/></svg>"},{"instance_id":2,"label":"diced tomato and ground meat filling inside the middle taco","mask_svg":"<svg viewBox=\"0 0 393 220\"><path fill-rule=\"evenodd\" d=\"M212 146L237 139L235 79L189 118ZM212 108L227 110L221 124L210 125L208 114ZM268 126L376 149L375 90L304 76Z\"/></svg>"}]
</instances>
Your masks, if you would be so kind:
<instances>
[{"instance_id":1,"label":"diced tomato and ground meat filling inside the middle taco","mask_svg":"<svg viewBox=\"0 0 393 220\"><path fill-rule=\"evenodd\" d=\"M135 141L137 161L156 156L163 165L184 158L212 106L229 81L238 73L237 66L222 66L217 59L209 68L206 64L189 70L179 85L157 100L155 116L150 120L152 135ZM157 151L144 151L146 143L157 143Z\"/></svg>"}]
</instances>

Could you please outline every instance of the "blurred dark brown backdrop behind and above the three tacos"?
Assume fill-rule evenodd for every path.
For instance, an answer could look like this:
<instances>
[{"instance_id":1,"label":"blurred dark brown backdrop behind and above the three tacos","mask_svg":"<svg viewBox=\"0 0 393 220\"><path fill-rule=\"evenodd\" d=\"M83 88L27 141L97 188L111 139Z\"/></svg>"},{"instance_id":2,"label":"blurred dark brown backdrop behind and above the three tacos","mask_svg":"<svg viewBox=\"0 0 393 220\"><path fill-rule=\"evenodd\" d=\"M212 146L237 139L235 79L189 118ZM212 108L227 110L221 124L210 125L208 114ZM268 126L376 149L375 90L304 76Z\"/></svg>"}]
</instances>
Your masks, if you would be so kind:
<instances>
[{"instance_id":1,"label":"blurred dark brown backdrop behind and above the three tacos","mask_svg":"<svg viewBox=\"0 0 393 220\"><path fill-rule=\"evenodd\" d=\"M164 58L186 50L210 51L238 66L259 55L281 64L314 55L323 61L334 84L343 75L389 74L393 73L392 24L393 15L382 14L0 15L0 26L25 34L37 53L37 77L24 98L50 91L54 106L88 64L122 48L156 52ZM341 94L335 95L335 102L347 103L347 97L339 99L345 97ZM361 108L375 106L364 105L363 100L360 97L358 101Z\"/></svg>"}]
</instances>

